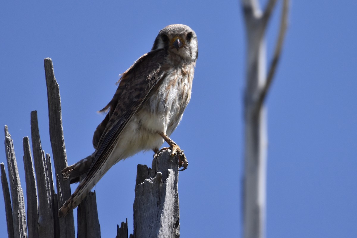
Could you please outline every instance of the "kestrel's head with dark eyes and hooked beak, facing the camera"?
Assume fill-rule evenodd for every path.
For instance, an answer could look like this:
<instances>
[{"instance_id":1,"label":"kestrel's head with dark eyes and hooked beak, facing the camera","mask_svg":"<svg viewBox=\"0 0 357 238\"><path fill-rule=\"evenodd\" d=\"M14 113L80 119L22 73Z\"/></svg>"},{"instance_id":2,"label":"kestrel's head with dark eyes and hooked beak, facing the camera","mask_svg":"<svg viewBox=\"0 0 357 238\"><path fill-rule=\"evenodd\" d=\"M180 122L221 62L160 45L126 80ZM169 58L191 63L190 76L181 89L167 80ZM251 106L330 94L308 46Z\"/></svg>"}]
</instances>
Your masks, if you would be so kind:
<instances>
[{"instance_id":1,"label":"kestrel's head with dark eyes and hooked beak, facing the camera","mask_svg":"<svg viewBox=\"0 0 357 238\"><path fill-rule=\"evenodd\" d=\"M157 49L166 49L185 61L195 62L198 56L196 33L182 24L166 26L157 35L151 50Z\"/></svg>"}]
</instances>

